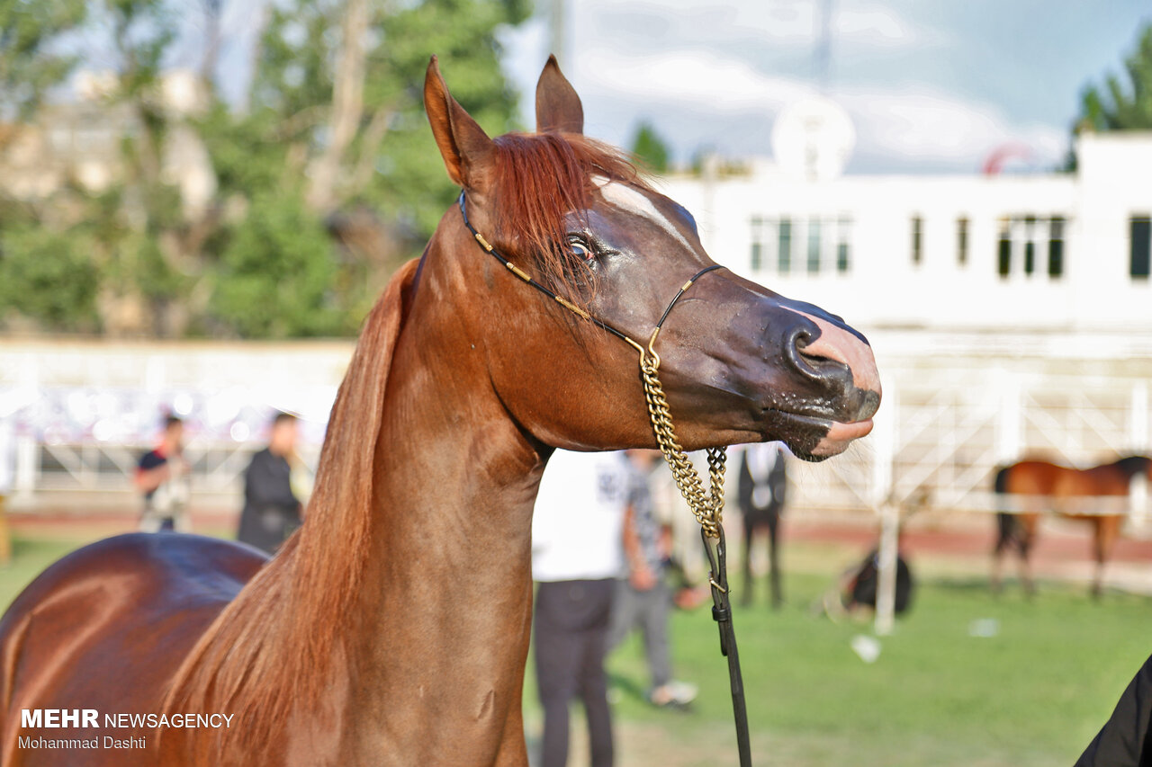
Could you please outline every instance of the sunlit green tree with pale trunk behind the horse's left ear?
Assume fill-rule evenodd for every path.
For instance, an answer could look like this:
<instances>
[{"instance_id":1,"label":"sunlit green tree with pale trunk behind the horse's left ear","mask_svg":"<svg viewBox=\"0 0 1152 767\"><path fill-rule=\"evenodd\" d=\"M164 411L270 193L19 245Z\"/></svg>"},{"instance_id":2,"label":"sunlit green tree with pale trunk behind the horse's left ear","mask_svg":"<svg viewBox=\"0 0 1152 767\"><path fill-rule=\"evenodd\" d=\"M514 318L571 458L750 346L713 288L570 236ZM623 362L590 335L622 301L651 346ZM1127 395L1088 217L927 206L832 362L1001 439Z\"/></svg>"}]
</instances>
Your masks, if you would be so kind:
<instances>
[{"instance_id":1,"label":"sunlit green tree with pale trunk behind the horse's left ear","mask_svg":"<svg viewBox=\"0 0 1152 767\"><path fill-rule=\"evenodd\" d=\"M291 0L274 8L253 112L275 115L310 179L310 207L326 215L366 204L392 240L406 241L400 252L414 252L453 197L424 119L429 54L440 56L453 96L487 130L503 132L515 127L516 96L500 70L497 30L526 12L525 0Z\"/></svg>"}]
</instances>

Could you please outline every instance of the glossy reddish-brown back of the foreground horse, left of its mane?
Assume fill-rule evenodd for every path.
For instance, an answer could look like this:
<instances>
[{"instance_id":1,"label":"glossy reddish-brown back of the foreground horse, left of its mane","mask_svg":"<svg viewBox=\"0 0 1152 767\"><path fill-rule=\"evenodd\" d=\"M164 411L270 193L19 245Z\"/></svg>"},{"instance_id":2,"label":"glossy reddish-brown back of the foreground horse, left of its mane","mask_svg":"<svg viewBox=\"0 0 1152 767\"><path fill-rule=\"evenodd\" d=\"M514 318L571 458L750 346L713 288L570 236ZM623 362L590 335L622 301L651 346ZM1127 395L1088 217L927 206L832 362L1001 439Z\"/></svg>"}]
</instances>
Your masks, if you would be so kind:
<instances>
[{"instance_id":1,"label":"glossy reddish-brown back of the foreground horse, left of its mane","mask_svg":"<svg viewBox=\"0 0 1152 767\"><path fill-rule=\"evenodd\" d=\"M82 761L154 760L154 732L22 731L21 709L94 708L101 727L105 714L161 713L181 661L265 561L214 538L131 533L77 549L40 574L0 620L0 764L79 764L75 752L17 753L20 735L144 735L146 750L85 751Z\"/></svg>"}]
</instances>

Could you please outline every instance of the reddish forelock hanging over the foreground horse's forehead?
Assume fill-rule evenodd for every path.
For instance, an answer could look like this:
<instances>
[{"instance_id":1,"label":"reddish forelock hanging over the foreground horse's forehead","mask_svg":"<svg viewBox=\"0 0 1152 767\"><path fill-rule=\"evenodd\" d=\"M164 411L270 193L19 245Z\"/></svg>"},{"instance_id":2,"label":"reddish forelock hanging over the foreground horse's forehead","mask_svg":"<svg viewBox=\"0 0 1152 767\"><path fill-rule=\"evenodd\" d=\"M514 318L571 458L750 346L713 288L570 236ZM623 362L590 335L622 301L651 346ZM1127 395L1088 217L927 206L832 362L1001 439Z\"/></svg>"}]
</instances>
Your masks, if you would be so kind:
<instances>
[{"instance_id":1,"label":"reddish forelock hanging over the foreground horse's forehead","mask_svg":"<svg viewBox=\"0 0 1152 767\"><path fill-rule=\"evenodd\" d=\"M493 244L508 255L522 253L539 269L533 274L554 290L581 297L588 265L566 236L566 217L581 219L591 205L593 179L622 181L646 191L624 154L581 134L506 134L495 139Z\"/></svg>"}]
</instances>

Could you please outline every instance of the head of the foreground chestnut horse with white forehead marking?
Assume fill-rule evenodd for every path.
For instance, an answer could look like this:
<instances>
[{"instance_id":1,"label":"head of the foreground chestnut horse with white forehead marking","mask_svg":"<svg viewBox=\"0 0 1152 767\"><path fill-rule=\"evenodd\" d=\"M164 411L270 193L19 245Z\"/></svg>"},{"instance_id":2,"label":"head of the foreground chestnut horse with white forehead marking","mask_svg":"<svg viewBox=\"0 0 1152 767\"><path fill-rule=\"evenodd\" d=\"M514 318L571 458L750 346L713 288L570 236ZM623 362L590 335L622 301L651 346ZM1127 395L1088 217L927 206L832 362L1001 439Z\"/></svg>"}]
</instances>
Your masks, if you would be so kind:
<instances>
[{"instance_id":1,"label":"head of the foreground chestnut horse with white forehead marking","mask_svg":"<svg viewBox=\"0 0 1152 767\"><path fill-rule=\"evenodd\" d=\"M554 59L537 85L536 134L490 138L434 58L424 97L464 190L437 234L460 243L444 281L526 434L568 449L651 447L637 350L662 313L652 351L685 448L782 440L821 460L871 431L880 380L865 337L818 306L707 271L692 215L583 136L579 97Z\"/></svg>"}]
</instances>

